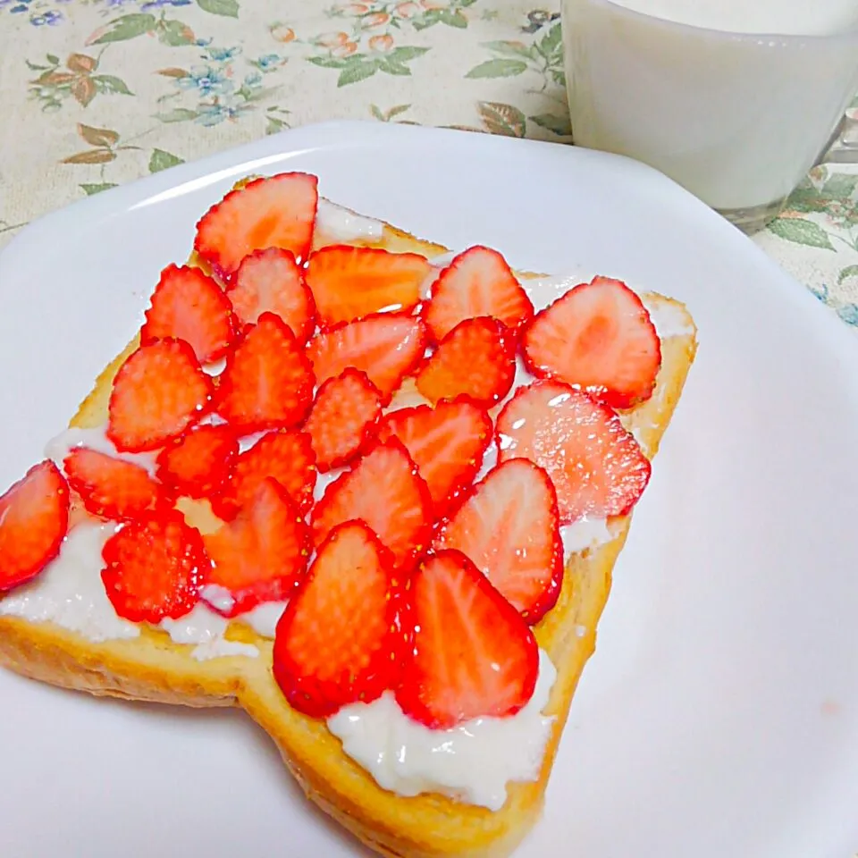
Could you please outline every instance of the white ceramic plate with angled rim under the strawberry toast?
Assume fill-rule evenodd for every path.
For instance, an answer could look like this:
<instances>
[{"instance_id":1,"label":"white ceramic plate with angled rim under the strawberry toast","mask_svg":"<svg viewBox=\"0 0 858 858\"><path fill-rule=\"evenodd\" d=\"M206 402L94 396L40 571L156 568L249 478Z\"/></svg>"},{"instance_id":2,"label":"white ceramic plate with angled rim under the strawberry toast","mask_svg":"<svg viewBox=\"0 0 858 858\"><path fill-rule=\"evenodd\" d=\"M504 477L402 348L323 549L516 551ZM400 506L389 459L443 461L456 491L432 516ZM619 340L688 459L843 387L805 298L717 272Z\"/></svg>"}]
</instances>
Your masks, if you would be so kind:
<instances>
[{"instance_id":1,"label":"white ceramic plate with angled rim under the strawberry toast","mask_svg":"<svg viewBox=\"0 0 858 858\"><path fill-rule=\"evenodd\" d=\"M51 214L0 257L0 484L140 324L246 172L300 169L418 235L686 301L700 352L617 568L521 858L858 851L858 341L639 164L381 124L290 131ZM366 854L239 713L97 701L0 672L10 858Z\"/></svg>"}]
</instances>

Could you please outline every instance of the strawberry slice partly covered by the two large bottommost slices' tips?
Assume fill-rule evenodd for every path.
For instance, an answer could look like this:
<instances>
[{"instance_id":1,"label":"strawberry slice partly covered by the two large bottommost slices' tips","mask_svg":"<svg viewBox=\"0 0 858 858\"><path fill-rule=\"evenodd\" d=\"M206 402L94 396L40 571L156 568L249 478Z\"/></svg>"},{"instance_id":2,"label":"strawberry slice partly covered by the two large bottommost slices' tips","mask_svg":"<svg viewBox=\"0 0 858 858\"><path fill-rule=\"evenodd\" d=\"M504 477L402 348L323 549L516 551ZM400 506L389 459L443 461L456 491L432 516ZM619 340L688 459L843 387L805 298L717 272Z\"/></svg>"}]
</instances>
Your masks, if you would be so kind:
<instances>
[{"instance_id":1,"label":"strawberry slice partly covered by the two large bottommost slices' tips","mask_svg":"<svg viewBox=\"0 0 858 858\"><path fill-rule=\"evenodd\" d=\"M398 568L424 551L432 525L432 500L414 462L396 438L377 443L339 476L313 509L316 545L344 521L360 518L393 552Z\"/></svg>"}]
</instances>

